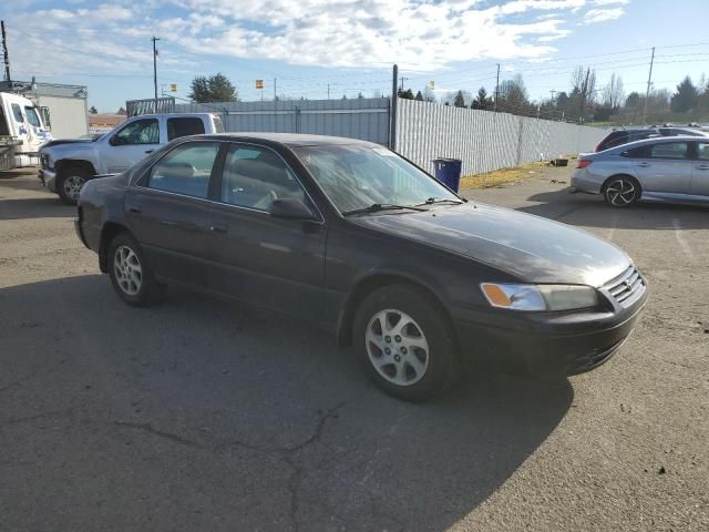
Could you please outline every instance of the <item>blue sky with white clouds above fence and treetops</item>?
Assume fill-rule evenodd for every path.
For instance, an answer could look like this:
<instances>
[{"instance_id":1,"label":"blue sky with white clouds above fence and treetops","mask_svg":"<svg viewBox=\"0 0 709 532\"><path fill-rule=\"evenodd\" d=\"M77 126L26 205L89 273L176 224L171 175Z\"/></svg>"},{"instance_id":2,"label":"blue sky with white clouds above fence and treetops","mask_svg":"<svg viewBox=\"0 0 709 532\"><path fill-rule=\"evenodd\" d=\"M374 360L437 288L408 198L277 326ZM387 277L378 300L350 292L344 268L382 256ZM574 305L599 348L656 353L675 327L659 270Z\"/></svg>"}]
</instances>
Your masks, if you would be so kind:
<instances>
[{"instance_id":1,"label":"blue sky with white clouds above fence and treetops","mask_svg":"<svg viewBox=\"0 0 709 532\"><path fill-rule=\"evenodd\" d=\"M681 9L679 7L681 6ZM224 73L245 101L390 94L392 65L415 93L494 92L520 73L530 96L568 91L577 65L644 93L709 75L709 0L11 0L0 2L13 80L88 85L114 112L158 92L186 99ZM264 90L255 80L264 80ZM275 81L276 80L276 81ZM401 83L401 80L399 80Z\"/></svg>"}]
</instances>

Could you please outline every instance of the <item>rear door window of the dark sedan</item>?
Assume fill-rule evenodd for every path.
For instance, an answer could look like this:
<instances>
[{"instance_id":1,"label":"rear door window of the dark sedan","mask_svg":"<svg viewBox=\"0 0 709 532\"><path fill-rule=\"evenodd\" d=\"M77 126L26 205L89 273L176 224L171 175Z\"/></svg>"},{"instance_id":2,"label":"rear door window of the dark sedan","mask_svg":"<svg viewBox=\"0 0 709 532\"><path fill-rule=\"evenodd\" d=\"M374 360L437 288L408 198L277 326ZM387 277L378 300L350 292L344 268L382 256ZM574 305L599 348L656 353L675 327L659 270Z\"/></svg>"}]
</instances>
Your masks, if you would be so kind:
<instances>
[{"instance_id":1,"label":"rear door window of the dark sedan","mask_svg":"<svg viewBox=\"0 0 709 532\"><path fill-rule=\"evenodd\" d=\"M156 191L206 198L218 153L217 143L182 144L153 166L146 186Z\"/></svg>"}]
</instances>

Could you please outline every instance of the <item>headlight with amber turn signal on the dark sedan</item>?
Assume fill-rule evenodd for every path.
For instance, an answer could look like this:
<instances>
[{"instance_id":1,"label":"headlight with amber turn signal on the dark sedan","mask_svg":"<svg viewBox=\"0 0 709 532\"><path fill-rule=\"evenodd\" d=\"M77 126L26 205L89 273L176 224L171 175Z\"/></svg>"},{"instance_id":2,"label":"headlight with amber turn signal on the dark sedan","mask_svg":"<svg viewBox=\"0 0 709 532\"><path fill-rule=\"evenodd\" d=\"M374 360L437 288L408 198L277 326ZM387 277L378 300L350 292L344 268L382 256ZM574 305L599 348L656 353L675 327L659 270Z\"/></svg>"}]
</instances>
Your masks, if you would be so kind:
<instances>
[{"instance_id":1,"label":"headlight with amber turn signal on the dark sedan","mask_svg":"<svg viewBox=\"0 0 709 532\"><path fill-rule=\"evenodd\" d=\"M572 310L598 304L596 290L583 285L483 283L480 287L493 307L511 310Z\"/></svg>"}]
</instances>

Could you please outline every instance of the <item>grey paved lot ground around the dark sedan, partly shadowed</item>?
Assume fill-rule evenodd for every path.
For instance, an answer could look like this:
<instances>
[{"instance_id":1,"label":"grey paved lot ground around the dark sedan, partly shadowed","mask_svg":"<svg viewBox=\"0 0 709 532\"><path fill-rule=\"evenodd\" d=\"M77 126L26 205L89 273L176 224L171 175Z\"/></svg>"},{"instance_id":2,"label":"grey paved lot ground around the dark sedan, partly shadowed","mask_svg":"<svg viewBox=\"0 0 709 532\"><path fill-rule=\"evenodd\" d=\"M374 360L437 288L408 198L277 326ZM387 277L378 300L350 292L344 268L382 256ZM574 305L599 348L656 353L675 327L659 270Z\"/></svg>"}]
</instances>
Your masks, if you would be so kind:
<instances>
[{"instance_id":1,"label":"grey paved lot ground around the dark sedan, partly shadowed","mask_svg":"<svg viewBox=\"0 0 709 532\"><path fill-rule=\"evenodd\" d=\"M624 247L651 299L604 367L390 399L301 324L113 294L73 208L0 174L0 530L709 530L709 209L571 168L467 191Z\"/></svg>"}]
</instances>

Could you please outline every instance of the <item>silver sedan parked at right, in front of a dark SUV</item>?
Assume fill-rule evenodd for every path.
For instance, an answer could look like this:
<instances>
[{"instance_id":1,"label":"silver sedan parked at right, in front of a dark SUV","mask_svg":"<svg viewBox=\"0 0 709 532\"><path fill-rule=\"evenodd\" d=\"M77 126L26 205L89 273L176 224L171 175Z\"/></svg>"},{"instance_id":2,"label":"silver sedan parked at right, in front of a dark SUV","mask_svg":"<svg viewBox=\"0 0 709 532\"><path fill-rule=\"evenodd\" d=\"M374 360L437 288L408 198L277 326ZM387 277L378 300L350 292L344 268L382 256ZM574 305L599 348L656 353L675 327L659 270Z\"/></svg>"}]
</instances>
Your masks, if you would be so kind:
<instances>
[{"instance_id":1,"label":"silver sedan parked at right, in front of a dark SUV","mask_svg":"<svg viewBox=\"0 0 709 532\"><path fill-rule=\"evenodd\" d=\"M603 194L614 207L639 201L709 203L709 137L649 139L582 154L571 186Z\"/></svg>"}]
</instances>

